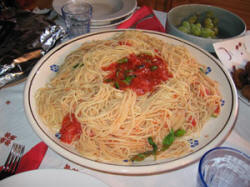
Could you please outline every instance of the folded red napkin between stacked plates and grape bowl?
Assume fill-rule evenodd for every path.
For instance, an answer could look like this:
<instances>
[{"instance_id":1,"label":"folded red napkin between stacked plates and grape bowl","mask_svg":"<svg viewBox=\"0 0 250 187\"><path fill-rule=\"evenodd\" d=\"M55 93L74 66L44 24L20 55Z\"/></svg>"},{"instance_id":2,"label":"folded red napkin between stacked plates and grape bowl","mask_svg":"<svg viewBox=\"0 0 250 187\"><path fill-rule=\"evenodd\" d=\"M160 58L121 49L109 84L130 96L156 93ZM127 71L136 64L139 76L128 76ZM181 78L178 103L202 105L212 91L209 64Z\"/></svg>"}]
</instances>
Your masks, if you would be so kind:
<instances>
[{"instance_id":1,"label":"folded red napkin between stacked plates and grape bowl","mask_svg":"<svg viewBox=\"0 0 250 187\"><path fill-rule=\"evenodd\" d=\"M152 15L152 17L145 18L150 15ZM143 18L145 18L145 20ZM131 18L118 25L117 29L127 29L134 26L137 29L165 32L165 28L155 16L153 10L147 6L142 6L140 9L136 10Z\"/></svg>"}]
</instances>

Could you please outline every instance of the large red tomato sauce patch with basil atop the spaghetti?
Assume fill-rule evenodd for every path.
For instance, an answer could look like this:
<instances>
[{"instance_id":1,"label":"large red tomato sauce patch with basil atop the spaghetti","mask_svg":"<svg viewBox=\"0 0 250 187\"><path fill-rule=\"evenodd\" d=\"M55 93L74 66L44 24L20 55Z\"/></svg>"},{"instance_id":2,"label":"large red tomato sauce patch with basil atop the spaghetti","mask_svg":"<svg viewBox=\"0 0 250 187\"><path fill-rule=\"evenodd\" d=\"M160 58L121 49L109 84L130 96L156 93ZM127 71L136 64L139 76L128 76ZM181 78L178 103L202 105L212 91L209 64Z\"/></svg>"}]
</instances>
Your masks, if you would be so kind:
<instances>
[{"instance_id":1,"label":"large red tomato sauce patch with basil atop the spaghetti","mask_svg":"<svg viewBox=\"0 0 250 187\"><path fill-rule=\"evenodd\" d=\"M110 72L105 83L112 83L121 90L130 88L139 96L152 92L157 85L173 77L161 57L149 54L130 54L102 69Z\"/></svg>"}]
</instances>

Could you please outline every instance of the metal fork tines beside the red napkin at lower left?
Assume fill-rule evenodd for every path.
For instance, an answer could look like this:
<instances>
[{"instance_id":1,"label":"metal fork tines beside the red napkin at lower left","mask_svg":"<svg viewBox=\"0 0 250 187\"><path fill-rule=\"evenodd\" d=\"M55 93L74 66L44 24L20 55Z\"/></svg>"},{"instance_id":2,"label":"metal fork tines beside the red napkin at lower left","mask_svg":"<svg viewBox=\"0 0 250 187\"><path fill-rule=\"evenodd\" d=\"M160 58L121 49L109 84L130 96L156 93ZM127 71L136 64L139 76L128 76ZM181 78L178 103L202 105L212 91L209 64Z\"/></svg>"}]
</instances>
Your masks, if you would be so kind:
<instances>
[{"instance_id":1,"label":"metal fork tines beside the red napkin at lower left","mask_svg":"<svg viewBox=\"0 0 250 187\"><path fill-rule=\"evenodd\" d=\"M24 149L24 145L16 143L12 145L8 158L0 172L0 180L16 173L19 162L23 156Z\"/></svg>"}]
</instances>

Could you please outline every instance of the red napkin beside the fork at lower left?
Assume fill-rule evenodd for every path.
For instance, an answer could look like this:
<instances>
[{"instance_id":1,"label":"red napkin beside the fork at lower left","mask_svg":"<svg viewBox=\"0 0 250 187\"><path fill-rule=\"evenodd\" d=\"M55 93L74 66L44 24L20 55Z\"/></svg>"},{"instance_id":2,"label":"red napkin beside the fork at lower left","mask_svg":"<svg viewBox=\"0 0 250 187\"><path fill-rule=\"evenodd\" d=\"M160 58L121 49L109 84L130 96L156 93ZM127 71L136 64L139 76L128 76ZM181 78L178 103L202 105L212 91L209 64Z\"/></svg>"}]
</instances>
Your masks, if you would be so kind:
<instances>
[{"instance_id":1,"label":"red napkin beside the fork at lower left","mask_svg":"<svg viewBox=\"0 0 250 187\"><path fill-rule=\"evenodd\" d=\"M16 173L34 170L39 168L48 146L40 142L25 153L19 163Z\"/></svg>"}]
</instances>

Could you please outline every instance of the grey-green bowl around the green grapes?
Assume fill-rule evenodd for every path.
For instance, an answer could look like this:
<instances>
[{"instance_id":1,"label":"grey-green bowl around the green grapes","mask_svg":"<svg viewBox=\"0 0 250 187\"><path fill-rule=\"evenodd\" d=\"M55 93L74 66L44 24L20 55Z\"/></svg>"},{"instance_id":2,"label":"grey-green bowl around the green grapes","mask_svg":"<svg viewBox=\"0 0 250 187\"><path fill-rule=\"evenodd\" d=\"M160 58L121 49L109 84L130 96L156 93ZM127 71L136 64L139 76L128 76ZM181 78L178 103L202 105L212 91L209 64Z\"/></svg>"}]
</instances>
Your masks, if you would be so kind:
<instances>
[{"instance_id":1,"label":"grey-green bowl around the green grapes","mask_svg":"<svg viewBox=\"0 0 250 187\"><path fill-rule=\"evenodd\" d=\"M184 33L177 28L181 25L182 21L191 15L195 13L204 14L207 11L212 11L214 16L219 19L219 35L216 39L194 36ZM167 33L188 40L211 53L214 52L213 43L240 37L245 32L246 24L243 19L228 10L215 6L187 4L177 6L167 14Z\"/></svg>"}]
</instances>

